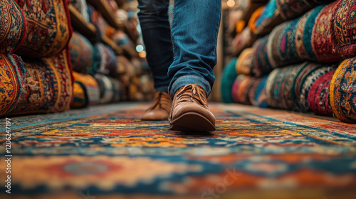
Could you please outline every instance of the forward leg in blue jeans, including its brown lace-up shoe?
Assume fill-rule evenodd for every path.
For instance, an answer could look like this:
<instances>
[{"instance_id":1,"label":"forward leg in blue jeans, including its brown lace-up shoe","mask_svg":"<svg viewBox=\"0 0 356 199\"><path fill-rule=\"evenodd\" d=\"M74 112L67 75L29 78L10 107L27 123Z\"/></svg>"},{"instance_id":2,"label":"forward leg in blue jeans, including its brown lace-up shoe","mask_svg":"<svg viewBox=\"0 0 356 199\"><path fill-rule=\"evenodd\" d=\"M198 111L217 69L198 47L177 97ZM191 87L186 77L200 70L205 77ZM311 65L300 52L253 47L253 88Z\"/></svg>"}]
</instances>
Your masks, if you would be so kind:
<instances>
[{"instance_id":1,"label":"forward leg in blue jeans, including its brown lace-up shoe","mask_svg":"<svg viewBox=\"0 0 356 199\"><path fill-rule=\"evenodd\" d=\"M169 95L172 130L214 131L215 117L206 97L214 85L220 0L175 0L172 21L174 60Z\"/></svg>"}]
</instances>

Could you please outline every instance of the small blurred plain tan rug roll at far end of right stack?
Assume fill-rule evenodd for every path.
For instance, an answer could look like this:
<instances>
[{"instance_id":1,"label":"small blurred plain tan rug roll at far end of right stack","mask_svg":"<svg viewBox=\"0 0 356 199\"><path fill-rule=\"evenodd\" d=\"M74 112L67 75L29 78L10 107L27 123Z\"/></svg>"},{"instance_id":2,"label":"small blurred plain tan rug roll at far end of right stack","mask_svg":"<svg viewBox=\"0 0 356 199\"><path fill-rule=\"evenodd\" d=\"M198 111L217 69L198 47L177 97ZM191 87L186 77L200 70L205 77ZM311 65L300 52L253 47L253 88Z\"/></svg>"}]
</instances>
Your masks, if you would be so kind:
<instances>
[{"instance_id":1,"label":"small blurred plain tan rug roll at far end of right stack","mask_svg":"<svg viewBox=\"0 0 356 199\"><path fill-rule=\"evenodd\" d=\"M246 48L239 56L236 62L236 72L238 74L251 75L253 68L253 54L256 53L254 48Z\"/></svg>"}]
</instances>

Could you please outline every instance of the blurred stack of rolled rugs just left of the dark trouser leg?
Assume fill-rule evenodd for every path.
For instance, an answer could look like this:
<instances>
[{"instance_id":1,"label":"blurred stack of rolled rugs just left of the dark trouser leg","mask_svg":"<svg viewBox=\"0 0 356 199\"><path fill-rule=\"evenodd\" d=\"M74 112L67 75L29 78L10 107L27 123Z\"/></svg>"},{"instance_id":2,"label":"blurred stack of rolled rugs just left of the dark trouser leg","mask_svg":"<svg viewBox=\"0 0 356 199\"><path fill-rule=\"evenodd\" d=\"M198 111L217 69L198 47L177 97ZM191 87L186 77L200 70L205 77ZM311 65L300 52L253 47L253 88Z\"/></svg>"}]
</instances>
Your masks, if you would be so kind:
<instances>
[{"instance_id":1,"label":"blurred stack of rolled rugs just left of the dark trouser leg","mask_svg":"<svg viewBox=\"0 0 356 199\"><path fill-rule=\"evenodd\" d=\"M85 19L85 21L94 24L98 36L96 38L85 38L77 32L80 30L76 30L70 40L70 55L75 71L74 87L76 90L71 107L82 108L125 99L145 99L143 90L154 91L153 87L147 88L147 85L151 85L152 77L147 75L144 77L140 72L143 68L142 63L135 56L132 56L132 53L125 51L135 48L134 43L123 31L112 28L100 14L100 11L82 1L70 0L68 3L75 6L83 18L88 16L88 20ZM109 10L117 10L115 1L103 1L101 3L108 6L107 9ZM122 49L125 48L124 53L125 55L129 54L127 55L128 58L117 55L118 52L113 50L113 47L105 45L101 41L110 43L110 45L112 45L111 43L116 44ZM145 85L140 82L144 82ZM151 99L151 97L148 99Z\"/></svg>"}]
</instances>

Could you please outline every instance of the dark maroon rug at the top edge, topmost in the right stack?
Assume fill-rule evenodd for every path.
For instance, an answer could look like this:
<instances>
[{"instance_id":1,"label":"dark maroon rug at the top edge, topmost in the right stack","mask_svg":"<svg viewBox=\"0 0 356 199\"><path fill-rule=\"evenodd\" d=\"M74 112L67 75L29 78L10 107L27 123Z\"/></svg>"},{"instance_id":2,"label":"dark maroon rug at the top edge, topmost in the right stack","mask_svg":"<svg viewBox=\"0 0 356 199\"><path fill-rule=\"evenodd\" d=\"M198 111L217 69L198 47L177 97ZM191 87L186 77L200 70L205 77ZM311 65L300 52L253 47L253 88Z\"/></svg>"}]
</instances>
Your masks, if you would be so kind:
<instances>
[{"instance_id":1,"label":"dark maroon rug at the top edge, topmost in the right stack","mask_svg":"<svg viewBox=\"0 0 356 199\"><path fill-rule=\"evenodd\" d=\"M335 0L277 0L276 6L284 20L298 17L320 4Z\"/></svg>"}]
</instances>

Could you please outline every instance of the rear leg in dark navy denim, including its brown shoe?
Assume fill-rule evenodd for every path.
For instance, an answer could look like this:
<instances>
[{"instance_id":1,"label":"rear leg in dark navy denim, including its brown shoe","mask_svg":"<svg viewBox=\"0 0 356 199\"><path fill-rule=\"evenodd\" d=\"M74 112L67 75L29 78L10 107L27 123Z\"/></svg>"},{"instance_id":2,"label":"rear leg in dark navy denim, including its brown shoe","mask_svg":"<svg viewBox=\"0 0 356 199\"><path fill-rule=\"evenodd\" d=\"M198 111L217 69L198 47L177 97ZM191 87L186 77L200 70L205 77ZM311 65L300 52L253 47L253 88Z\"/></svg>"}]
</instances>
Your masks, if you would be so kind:
<instances>
[{"instance_id":1,"label":"rear leg in dark navy denim, including its brown shoe","mask_svg":"<svg viewBox=\"0 0 356 199\"><path fill-rule=\"evenodd\" d=\"M173 61L171 31L168 21L169 0L138 0L138 13L142 37L147 51L155 83L156 96L153 104L142 116L142 120L167 120L171 109L167 75Z\"/></svg>"}]
</instances>

